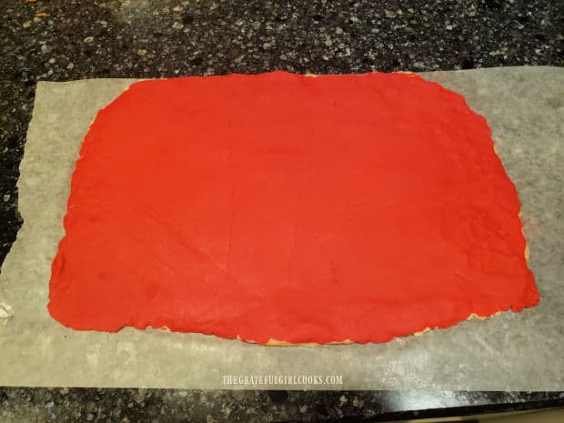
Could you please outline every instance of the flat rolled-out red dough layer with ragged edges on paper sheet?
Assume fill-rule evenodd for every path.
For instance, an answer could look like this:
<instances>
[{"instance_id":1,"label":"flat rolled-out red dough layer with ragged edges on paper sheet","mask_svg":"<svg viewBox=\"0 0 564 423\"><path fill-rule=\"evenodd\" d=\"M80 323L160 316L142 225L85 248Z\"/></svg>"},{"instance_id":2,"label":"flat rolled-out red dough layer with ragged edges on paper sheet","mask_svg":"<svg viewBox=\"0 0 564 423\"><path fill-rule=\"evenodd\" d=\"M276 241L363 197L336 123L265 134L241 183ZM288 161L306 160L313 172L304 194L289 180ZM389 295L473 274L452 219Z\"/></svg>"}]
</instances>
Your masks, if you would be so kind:
<instances>
[{"instance_id":1,"label":"flat rolled-out red dough layer with ragged edges on paper sheet","mask_svg":"<svg viewBox=\"0 0 564 423\"><path fill-rule=\"evenodd\" d=\"M419 76L144 81L80 156L67 327L383 342L539 301L486 119Z\"/></svg>"}]
</instances>

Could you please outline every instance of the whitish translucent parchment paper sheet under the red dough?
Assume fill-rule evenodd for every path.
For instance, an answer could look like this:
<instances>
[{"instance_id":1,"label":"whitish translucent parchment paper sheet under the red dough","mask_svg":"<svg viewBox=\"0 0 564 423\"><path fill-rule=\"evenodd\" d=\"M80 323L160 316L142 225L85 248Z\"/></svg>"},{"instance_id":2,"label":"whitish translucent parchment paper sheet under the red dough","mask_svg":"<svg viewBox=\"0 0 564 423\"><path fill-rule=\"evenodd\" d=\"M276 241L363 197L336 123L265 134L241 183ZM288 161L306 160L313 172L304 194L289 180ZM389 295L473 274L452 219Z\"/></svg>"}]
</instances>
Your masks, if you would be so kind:
<instances>
[{"instance_id":1,"label":"whitish translucent parchment paper sheet under the red dough","mask_svg":"<svg viewBox=\"0 0 564 423\"><path fill-rule=\"evenodd\" d=\"M539 307L379 345L263 347L156 329L62 327L47 314L47 283L78 148L96 111L133 80L40 82L18 182L25 223L0 274L0 385L564 390L564 69L422 75L488 118L522 202ZM232 386L225 375L337 375L342 384Z\"/></svg>"}]
</instances>

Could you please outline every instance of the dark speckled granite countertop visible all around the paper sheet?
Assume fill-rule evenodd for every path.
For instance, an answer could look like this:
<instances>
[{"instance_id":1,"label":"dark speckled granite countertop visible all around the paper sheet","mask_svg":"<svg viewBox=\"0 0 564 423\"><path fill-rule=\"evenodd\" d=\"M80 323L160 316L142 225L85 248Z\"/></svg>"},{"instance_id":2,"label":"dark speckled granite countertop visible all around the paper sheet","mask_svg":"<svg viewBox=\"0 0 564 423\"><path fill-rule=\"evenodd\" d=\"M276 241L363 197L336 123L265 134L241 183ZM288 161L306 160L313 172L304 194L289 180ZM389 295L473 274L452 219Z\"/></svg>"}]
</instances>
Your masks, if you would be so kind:
<instances>
[{"instance_id":1,"label":"dark speckled granite countertop visible all around the paper sheet","mask_svg":"<svg viewBox=\"0 0 564 423\"><path fill-rule=\"evenodd\" d=\"M0 0L0 263L22 225L16 182L38 80L564 65L561 2L411 3ZM433 401L421 395L2 388L0 415L3 421L18 421L23 410L29 421L126 422L141 415L168 421L163 414L174 421L187 414L204 421L342 421L398 412L414 417L426 408L457 413L564 404L559 393L443 392Z\"/></svg>"}]
</instances>

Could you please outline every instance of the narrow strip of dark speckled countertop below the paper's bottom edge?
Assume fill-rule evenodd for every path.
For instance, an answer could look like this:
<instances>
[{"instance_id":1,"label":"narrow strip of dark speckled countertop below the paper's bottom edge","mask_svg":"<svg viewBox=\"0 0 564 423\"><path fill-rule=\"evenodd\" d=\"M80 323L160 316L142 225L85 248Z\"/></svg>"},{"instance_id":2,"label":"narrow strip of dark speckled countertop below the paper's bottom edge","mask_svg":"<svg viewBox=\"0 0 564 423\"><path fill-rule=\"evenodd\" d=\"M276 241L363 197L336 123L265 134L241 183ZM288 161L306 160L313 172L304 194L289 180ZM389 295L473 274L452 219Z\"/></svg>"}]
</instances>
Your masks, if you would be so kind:
<instances>
[{"instance_id":1,"label":"narrow strip of dark speckled countertop below the paper's bottom edge","mask_svg":"<svg viewBox=\"0 0 564 423\"><path fill-rule=\"evenodd\" d=\"M551 408L559 392L0 388L0 421L358 422Z\"/></svg>"}]
</instances>

